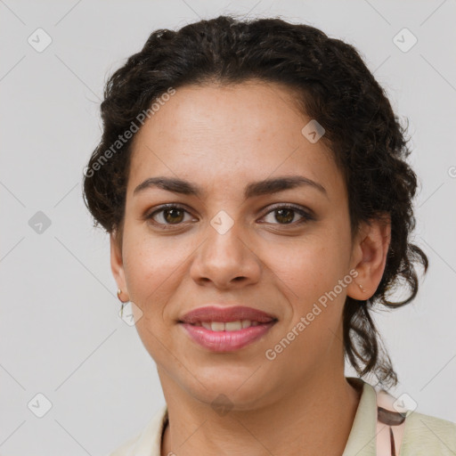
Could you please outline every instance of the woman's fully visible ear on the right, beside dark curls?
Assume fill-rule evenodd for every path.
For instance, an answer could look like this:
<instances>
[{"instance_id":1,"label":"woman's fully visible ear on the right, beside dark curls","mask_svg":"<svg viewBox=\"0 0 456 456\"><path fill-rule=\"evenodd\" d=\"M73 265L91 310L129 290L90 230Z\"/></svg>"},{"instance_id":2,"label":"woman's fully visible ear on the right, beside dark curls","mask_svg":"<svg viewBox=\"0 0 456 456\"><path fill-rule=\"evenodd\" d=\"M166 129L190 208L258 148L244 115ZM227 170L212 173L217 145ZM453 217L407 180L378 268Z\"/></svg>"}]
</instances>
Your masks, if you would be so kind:
<instances>
[{"instance_id":1,"label":"woman's fully visible ear on the right, beside dark curls","mask_svg":"<svg viewBox=\"0 0 456 456\"><path fill-rule=\"evenodd\" d=\"M360 301L372 297L385 271L390 241L389 215L361 225L354 240L350 269L356 269L358 275L347 287L347 296Z\"/></svg>"}]
</instances>

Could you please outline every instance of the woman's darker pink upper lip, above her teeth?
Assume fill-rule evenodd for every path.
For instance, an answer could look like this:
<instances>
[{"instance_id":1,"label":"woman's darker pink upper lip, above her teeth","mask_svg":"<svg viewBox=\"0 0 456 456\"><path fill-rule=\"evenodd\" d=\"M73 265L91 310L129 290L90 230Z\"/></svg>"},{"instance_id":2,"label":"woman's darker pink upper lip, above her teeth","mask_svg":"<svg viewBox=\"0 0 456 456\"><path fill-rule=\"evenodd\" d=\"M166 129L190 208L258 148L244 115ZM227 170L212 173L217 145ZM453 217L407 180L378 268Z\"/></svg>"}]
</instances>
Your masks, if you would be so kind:
<instances>
[{"instance_id":1,"label":"woman's darker pink upper lip, above her teeth","mask_svg":"<svg viewBox=\"0 0 456 456\"><path fill-rule=\"evenodd\" d=\"M271 314L266 314L262 310L245 307L243 305L231 307L205 305L184 314L179 322L192 324L198 322L237 322L238 320L268 323L276 321L277 318Z\"/></svg>"}]
</instances>

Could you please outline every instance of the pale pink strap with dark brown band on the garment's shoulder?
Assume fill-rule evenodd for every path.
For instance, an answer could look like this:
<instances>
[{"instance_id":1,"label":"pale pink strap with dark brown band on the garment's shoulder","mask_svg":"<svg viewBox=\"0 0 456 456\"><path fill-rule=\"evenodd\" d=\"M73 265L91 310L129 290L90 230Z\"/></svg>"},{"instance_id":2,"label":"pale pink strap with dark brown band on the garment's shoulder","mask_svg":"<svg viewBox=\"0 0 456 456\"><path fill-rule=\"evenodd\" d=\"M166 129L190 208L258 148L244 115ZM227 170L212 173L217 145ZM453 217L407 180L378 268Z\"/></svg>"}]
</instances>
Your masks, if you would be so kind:
<instances>
[{"instance_id":1,"label":"pale pink strap with dark brown band on the garment's shoulder","mask_svg":"<svg viewBox=\"0 0 456 456\"><path fill-rule=\"evenodd\" d=\"M405 412L393 407L395 397L386 391L377 392L377 456L399 456L403 442Z\"/></svg>"}]
</instances>

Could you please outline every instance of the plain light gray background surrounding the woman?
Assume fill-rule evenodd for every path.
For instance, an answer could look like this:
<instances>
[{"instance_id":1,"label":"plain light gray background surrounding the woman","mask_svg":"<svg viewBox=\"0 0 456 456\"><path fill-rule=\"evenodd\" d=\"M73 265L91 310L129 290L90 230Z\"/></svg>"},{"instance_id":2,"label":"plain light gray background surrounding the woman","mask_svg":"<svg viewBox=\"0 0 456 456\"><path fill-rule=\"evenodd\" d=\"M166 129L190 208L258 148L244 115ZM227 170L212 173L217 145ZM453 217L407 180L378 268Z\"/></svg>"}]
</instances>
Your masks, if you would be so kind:
<instances>
[{"instance_id":1,"label":"plain light gray background surrounding the woman","mask_svg":"<svg viewBox=\"0 0 456 456\"><path fill-rule=\"evenodd\" d=\"M164 403L154 362L118 317L108 236L85 210L82 170L100 139L108 75L153 29L224 12L281 15L355 45L409 118L415 241L431 266L414 304L375 319L396 395L456 421L454 0L0 0L0 454L107 454ZM28 44L37 28L53 40L41 53ZM408 52L394 42L403 28L418 38ZM41 232L38 211L51 222ZM43 418L28 408L45 406L38 393L52 403Z\"/></svg>"}]
</instances>

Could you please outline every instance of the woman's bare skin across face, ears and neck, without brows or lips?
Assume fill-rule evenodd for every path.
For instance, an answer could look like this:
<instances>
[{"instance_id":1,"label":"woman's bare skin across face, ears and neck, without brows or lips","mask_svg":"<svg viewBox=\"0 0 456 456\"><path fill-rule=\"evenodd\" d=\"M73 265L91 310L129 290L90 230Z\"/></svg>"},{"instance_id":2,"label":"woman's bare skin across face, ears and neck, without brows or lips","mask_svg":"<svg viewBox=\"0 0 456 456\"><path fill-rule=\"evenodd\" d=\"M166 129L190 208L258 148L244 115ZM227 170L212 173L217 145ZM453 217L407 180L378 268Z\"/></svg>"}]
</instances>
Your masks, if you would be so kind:
<instances>
[{"instance_id":1,"label":"woman's bare skin across face, ears and neck, without brows or lips","mask_svg":"<svg viewBox=\"0 0 456 456\"><path fill-rule=\"evenodd\" d=\"M359 391L344 376L343 305L347 295L366 299L377 289L390 229L374 220L352 240L345 183L322 141L301 134L309 120L283 85L190 85L134 138L123 234L110 236L111 268L121 299L142 311L136 328L157 363L169 416L162 455L344 451ZM247 183L285 175L312 179L326 194L304 185L244 199ZM134 194L154 176L179 177L204 193L151 187ZM165 203L187 212L145 217ZM310 210L314 220L278 216L276 203ZM234 223L224 234L210 224L220 210ZM292 224L284 222L289 215ZM353 269L354 281L266 359ZM177 320L211 303L252 306L278 322L240 350L209 352ZM211 406L220 394L232 404L223 416Z\"/></svg>"}]
</instances>

